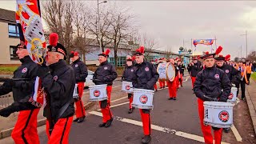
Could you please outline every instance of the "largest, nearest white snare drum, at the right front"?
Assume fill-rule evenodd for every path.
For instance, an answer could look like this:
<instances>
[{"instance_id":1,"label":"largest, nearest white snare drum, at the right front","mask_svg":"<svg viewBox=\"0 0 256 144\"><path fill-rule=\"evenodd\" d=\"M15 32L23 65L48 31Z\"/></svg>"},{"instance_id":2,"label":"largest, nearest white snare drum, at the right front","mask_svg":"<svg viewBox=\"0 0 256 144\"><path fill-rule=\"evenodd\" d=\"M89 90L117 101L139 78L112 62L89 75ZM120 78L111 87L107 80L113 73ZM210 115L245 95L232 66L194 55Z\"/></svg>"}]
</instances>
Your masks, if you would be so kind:
<instances>
[{"instance_id":1,"label":"largest, nearest white snare drum, at the right front","mask_svg":"<svg viewBox=\"0 0 256 144\"><path fill-rule=\"evenodd\" d=\"M206 125L228 128L233 124L233 105L229 102L203 102Z\"/></svg>"}]
</instances>

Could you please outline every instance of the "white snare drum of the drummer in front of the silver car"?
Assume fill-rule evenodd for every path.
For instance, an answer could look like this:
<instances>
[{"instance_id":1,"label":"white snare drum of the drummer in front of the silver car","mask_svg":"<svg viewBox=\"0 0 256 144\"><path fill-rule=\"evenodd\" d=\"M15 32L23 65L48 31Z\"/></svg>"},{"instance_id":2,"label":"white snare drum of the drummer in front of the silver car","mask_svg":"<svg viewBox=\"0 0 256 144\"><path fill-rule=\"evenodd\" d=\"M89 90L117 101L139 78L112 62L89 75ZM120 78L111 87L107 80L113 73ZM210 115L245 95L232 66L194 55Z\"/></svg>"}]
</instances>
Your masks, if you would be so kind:
<instances>
[{"instance_id":1,"label":"white snare drum of the drummer in front of the silver car","mask_svg":"<svg viewBox=\"0 0 256 144\"><path fill-rule=\"evenodd\" d=\"M106 84L89 86L90 101L102 101L107 99Z\"/></svg>"}]
</instances>

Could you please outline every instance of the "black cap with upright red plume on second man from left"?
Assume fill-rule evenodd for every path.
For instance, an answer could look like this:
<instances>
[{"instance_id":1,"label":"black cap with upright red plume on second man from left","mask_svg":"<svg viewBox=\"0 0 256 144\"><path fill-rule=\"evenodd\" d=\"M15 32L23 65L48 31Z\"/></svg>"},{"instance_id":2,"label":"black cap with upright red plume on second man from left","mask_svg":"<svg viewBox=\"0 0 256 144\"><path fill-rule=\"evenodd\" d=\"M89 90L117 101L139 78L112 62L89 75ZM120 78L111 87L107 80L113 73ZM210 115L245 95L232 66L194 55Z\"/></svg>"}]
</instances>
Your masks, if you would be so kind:
<instances>
[{"instance_id":1,"label":"black cap with upright red plume on second man from left","mask_svg":"<svg viewBox=\"0 0 256 144\"><path fill-rule=\"evenodd\" d=\"M47 46L48 51L52 52L58 52L60 54L64 55L64 59L66 59L66 49L62 44L58 43L58 34L56 33L51 33L49 37L49 46Z\"/></svg>"}]
</instances>

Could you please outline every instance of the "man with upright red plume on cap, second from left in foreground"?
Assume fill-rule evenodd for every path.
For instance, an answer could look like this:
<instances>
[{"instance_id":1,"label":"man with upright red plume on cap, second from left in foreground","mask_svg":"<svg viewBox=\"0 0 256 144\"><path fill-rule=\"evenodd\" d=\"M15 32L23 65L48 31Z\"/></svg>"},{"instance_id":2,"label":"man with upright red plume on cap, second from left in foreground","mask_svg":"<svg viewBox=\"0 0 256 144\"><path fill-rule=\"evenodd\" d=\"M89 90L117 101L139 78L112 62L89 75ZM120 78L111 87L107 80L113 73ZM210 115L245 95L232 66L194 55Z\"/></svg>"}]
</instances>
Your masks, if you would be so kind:
<instances>
[{"instance_id":1,"label":"man with upright red plume on cap, second from left in foreground","mask_svg":"<svg viewBox=\"0 0 256 144\"><path fill-rule=\"evenodd\" d=\"M58 34L50 34L46 65L38 66L38 76L46 91L44 116L48 143L68 143L74 115L74 70L68 66L66 49L58 43Z\"/></svg>"}]
</instances>

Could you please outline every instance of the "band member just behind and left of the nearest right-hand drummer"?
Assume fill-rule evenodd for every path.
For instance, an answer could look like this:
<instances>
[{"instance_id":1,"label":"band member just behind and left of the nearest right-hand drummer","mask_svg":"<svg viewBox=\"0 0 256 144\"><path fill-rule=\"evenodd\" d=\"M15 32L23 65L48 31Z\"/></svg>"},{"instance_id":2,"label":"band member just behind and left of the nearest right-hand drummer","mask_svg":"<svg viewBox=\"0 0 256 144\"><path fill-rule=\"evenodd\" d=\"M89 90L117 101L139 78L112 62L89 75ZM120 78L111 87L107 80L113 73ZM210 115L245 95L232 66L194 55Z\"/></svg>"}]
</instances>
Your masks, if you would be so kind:
<instances>
[{"instance_id":1,"label":"band member just behind and left of the nearest right-hand drummer","mask_svg":"<svg viewBox=\"0 0 256 144\"><path fill-rule=\"evenodd\" d=\"M195 82L196 76L201 70L202 70L202 63L198 61L198 57L194 57L190 67L192 90L194 89L194 82Z\"/></svg>"}]
</instances>

